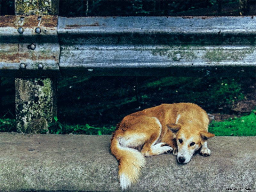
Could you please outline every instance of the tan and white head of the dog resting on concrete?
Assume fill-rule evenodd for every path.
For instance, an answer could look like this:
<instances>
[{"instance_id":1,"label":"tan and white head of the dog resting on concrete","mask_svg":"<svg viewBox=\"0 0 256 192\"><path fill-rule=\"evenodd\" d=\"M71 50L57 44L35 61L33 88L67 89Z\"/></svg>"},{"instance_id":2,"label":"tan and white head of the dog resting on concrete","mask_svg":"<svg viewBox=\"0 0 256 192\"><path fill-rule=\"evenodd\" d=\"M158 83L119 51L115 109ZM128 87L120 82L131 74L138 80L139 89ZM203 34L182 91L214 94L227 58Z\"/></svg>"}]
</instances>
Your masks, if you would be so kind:
<instances>
[{"instance_id":1,"label":"tan and white head of the dog resting on concrete","mask_svg":"<svg viewBox=\"0 0 256 192\"><path fill-rule=\"evenodd\" d=\"M188 163L196 150L201 148L207 139L215 136L210 132L198 129L196 126L198 125L167 124L167 127L173 132L173 138L177 141L177 161L179 163Z\"/></svg>"}]
</instances>

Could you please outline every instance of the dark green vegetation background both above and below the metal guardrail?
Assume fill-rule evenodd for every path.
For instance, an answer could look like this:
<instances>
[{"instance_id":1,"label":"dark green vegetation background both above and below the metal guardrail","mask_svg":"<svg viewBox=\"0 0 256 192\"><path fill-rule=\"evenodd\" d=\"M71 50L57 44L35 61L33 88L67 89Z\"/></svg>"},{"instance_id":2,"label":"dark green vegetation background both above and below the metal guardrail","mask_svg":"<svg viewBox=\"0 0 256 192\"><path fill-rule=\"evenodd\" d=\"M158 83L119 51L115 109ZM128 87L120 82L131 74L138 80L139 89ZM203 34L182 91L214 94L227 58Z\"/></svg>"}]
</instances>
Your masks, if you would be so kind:
<instances>
[{"instance_id":1,"label":"dark green vegetation background both above and below the metal guardrail","mask_svg":"<svg viewBox=\"0 0 256 192\"><path fill-rule=\"evenodd\" d=\"M0 1L1 15L14 1ZM239 0L60 0L60 16L180 16L256 14L255 1L241 12ZM1 77L0 131L15 131L14 78ZM215 116L216 135L256 135L255 78L69 77L59 79L58 117L50 133L110 134L127 114L161 103L193 102ZM249 104L248 104L249 103ZM239 106L239 107L238 107ZM230 119L232 117L233 119Z\"/></svg>"}]
</instances>

